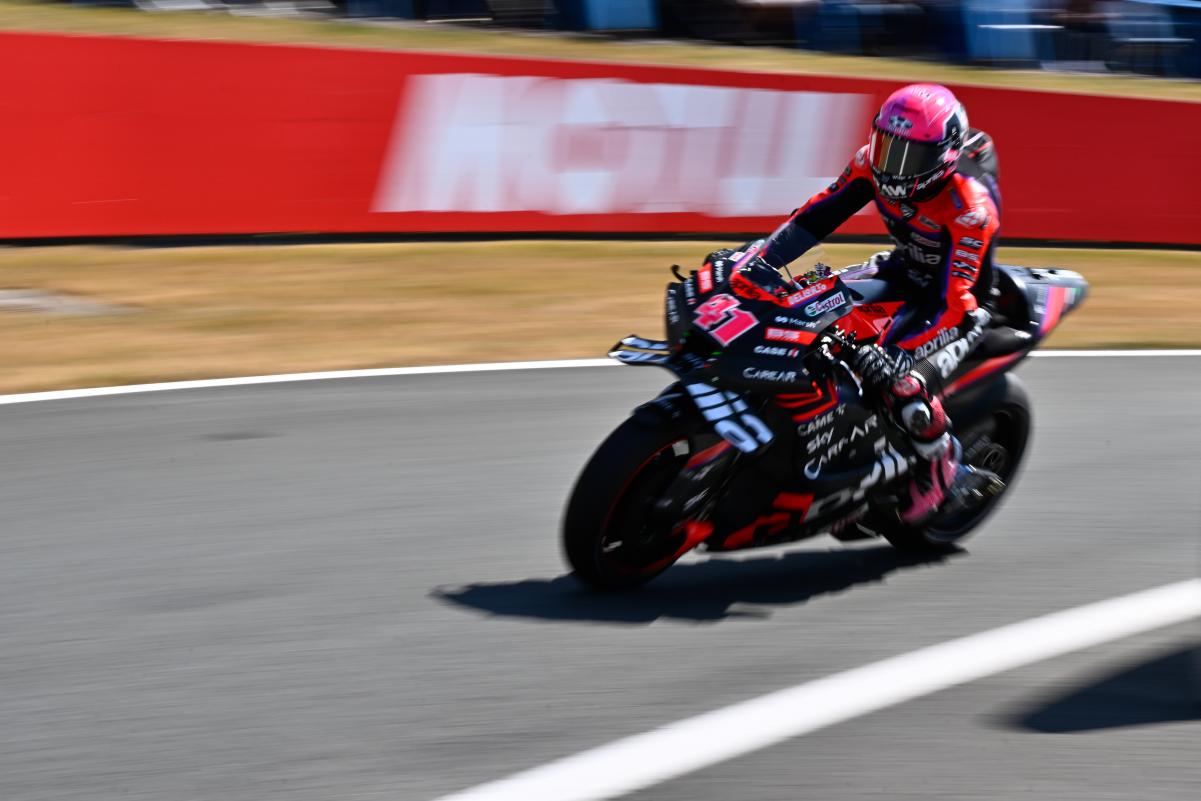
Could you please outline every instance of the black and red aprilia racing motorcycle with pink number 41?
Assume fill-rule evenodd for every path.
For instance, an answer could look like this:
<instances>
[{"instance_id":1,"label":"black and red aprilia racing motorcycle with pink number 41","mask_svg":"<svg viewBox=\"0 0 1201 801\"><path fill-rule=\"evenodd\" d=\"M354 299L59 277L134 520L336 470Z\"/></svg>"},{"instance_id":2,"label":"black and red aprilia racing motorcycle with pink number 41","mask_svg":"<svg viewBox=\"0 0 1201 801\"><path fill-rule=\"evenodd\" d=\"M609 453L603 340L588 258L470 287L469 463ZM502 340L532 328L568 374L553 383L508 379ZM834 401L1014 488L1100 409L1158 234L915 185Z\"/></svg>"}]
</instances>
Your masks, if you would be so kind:
<instances>
[{"instance_id":1,"label":"black and red aprilia racing motorcycle with pink number 41","mask_svg":"<svg viewBox=\"0 0 1201 801\"><path fill-rule=\"evenodd\" d=\"M993 315L967 359L936 351L962 461L1005 489L920 526L898 516L914 456L848 364L883 339L902 303L862 267L794 279L761 245L667 288L667 339L627 336L609 353L674 375L614 430L568 500L562 542L574 575L600 590L641 585L688 551L735 551L831 534L945 550L975 530L1014 479L1030 402L1011 370L1088 292L1069 270L993 265ZM952 342L948 348L964 347Z\"/></svg>"}]
</instances>

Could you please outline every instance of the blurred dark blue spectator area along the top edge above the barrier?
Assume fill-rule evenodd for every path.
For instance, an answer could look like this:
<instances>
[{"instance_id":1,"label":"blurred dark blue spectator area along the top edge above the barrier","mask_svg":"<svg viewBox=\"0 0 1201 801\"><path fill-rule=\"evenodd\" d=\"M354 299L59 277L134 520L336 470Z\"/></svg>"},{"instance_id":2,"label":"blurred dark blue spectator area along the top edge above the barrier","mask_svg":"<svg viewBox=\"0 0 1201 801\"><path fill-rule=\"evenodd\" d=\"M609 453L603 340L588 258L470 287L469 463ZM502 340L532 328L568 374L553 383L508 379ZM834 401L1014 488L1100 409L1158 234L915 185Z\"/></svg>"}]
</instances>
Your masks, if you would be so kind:
<instances>
[{"instance_id":1,"label":"blurred dark blue spectator area along the top edge above the barrier","mask_svg":"<svg viewBox=\"0 0 1201 801\"><path fill-rule=\"evenodd\" d=\"M1201 76L1201 2L1195 0L142 0L130 5L497 24L991 66Z\"/></svg>"}]
</instances>

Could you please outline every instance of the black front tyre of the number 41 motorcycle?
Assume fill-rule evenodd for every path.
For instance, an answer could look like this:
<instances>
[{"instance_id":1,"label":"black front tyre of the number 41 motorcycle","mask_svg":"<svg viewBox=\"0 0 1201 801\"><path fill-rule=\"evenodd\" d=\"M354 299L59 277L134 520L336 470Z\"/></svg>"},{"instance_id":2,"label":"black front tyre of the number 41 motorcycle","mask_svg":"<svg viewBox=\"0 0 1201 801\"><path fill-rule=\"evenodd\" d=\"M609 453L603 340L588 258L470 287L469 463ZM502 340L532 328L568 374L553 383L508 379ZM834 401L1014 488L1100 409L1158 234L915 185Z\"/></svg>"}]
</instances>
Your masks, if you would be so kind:
<instances>
[{"instance_id":1,"label":"black front tyre of the number 41 motorcycle","mask_svg":"<svg viewBox=\"0 0 1201 801\"><path fill-rule=\"evenodd\" d=\"M645 584L671 566L679 521L656 521L651 504L692 454L681 422L629 418L584 467L563 515L563 551L576 579L596 590Z\"/></svg>"}]
</instances>

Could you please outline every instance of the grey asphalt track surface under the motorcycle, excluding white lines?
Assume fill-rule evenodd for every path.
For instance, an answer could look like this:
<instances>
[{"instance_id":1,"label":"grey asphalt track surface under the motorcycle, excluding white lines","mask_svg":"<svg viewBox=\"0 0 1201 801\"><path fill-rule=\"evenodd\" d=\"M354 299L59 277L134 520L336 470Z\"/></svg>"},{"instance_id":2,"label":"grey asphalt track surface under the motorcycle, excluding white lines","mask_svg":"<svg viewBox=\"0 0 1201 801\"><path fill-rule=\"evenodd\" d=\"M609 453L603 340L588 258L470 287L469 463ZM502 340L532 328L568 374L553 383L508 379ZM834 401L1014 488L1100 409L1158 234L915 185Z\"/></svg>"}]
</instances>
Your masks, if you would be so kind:
<instances>
[{"instance_id":1,"label":"grey asphalt track surface under the motorcycle, excluding white lines","mask_svg":"<svg viewBox=\"0 0 1201 801\"><path fill-rule=\"evenodd\" d=\"M0 799L431 801L1196 576L1197 366L1024 365L1034 450L961 554L812 540L616 598L564 578L557 524L653 370L5 407ZM629 797L1195 800L1197 644L1195 624L1110 642Z\"/></svg>"}]
</instances>

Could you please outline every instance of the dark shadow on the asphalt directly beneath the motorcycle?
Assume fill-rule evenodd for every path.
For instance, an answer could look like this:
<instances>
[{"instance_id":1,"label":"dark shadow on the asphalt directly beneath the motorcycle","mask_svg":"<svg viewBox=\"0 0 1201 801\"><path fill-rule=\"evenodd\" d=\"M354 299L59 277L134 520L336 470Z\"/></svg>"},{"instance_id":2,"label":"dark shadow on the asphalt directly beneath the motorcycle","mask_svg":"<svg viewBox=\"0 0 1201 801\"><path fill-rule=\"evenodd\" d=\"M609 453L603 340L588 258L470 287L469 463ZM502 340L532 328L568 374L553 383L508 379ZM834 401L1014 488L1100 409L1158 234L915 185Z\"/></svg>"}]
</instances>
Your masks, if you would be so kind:
<instances>
[{"instance_id":1,"label":"dark shadow on the asphalt directly beneath the motorcycle","mask_svg":"<svg viewBox=\"0 0 1201 801\"><path fill-rule=\"evenodd\" d=\"M758 558L713 557L674 566L640 590L597 593L570 576L438 587L441 600L503 617L646 624L661 618L716 622L765 618L790 606L877 584L895 570L939 564L963 550L904 554L889 545L794 551ZM752 608L741 608L748 604Z\"/></svg>"}]
</instances>

